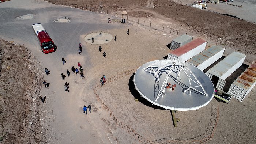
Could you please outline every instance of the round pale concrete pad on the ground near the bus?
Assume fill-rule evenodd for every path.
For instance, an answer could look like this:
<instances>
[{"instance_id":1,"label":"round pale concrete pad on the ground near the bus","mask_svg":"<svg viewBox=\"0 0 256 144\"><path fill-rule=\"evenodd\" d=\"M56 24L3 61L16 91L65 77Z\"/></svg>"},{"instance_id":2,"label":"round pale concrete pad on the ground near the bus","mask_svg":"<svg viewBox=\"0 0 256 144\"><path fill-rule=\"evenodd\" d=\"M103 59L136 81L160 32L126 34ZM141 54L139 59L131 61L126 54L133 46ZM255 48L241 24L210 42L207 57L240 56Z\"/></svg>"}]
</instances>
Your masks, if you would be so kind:
<instances>
[{"instance_id":1,"label":"round pale concrete pad on the ground near the bus","mask_svg":"<svg viewBox=\"0 0 256 144\"><path fill-rule=\"evenodd\" d=\"M91 39L92 37L94 39L94 42ZM110 42L113 39L113 37L111 34L108 33L92 33L87 35L84 39L87 43L101 45Z\"/></svg>"}]
</instances>

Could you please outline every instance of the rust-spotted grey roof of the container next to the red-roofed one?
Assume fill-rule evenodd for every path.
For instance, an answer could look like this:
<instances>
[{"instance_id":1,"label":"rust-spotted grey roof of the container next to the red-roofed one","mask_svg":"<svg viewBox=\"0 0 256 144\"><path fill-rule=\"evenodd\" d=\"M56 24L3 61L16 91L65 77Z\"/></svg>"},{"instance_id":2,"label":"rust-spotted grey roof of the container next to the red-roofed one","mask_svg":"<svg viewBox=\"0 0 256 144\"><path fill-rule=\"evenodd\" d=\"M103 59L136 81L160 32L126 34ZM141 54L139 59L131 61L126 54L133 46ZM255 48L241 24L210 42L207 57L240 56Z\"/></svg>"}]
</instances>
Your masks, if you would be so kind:
<instances>
[{"instance_id":1,"label":"rust-spotted grey roof of the container next to the red-roofed one","mask_svg":"<svg viewBox=\"0 0 256 144\"><path fill-rule=\"evenodd\" d=\"M223 49L224 48L222 48L221 46L217 46L217 45L211 46L210 48L190 58L188 62L191 62L192 64L195 64L195 65L200 65L204 61L208 60L209 58L211 58L212 56L214 56L215 54L217 54Z\"/></svg>"}]
</instances>

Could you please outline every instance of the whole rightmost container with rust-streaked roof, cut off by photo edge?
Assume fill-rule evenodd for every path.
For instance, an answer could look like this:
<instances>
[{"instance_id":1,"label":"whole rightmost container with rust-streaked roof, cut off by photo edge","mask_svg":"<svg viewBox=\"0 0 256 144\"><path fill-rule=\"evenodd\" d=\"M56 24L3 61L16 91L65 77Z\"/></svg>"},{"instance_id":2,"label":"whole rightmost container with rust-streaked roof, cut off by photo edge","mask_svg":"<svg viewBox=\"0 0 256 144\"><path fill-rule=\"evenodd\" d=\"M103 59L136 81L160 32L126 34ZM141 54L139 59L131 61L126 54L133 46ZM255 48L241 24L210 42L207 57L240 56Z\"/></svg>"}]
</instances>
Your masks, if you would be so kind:
<instances>
[{"instance_id":1,"label":"whole rightmost container with rust-streaked roof, cut off by photo edge","mask_svg":"<svg viewBox=\"0 0 256 144\"><path fill-rule=\"evenodd\" d=\"M256 60L231 84L227 92L238 101L243 101L256 84Z\"/></svg>"}]
</instances>

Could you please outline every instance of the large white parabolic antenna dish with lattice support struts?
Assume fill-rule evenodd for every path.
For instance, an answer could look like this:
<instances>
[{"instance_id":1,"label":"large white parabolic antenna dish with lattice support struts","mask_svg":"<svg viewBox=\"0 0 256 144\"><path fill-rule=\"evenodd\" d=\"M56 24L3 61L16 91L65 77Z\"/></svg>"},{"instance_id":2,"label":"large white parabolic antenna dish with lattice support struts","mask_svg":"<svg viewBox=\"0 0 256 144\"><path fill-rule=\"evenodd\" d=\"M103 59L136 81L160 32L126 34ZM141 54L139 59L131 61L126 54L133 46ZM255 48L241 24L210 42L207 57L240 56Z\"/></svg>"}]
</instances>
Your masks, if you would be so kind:
<instances>
[{"instance_id":1,"label":"large white parabolic antenna dish with lattice support struts","mask_svg":"<svg viewBox=\"0 0 256 144\"><path fill-rule=\"evenodd\" d=\"M133 82L140 95L168 110L196 110L214 96L214 86L204 72L177 60L147 62L136 71Z\"/></svg>"}]
</instances>

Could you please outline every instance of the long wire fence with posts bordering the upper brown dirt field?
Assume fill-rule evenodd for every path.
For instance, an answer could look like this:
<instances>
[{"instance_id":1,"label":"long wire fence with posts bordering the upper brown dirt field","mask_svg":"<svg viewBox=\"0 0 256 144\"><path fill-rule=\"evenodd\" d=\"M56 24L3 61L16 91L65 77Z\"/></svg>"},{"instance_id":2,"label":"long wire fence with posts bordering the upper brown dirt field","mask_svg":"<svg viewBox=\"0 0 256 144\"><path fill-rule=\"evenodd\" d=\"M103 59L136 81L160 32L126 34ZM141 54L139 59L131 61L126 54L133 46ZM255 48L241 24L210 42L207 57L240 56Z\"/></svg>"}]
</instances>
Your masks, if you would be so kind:
<instances>
[{"instance_id":1,"label":"long wire fence with posts bordering the upper brown dirt field","mask_svg":"<svg viewBox=\"0 0 256 144\"><path fill-rule=\"evenodd\" d=\"M65 5L65 6L69 6L69 7L79 8L82 10L99 12L99 14L101 14L101 12L99 11L99 7L94 7L91 5L74 4L74 3L70 3L68 1L62 1L62 0L45 0L45 1L48 1L53 4L57 4L57 5ZM170 26L164 26L163 24L148 22L148 21L142 20L140 18L135 18L135 17L129 16L129 15L123 16L121 13L118 13L117 11L106 10L105 14L109 14L109 15L111 14L112 16L116 16L120 19L126 19L127 21L129 20L134 23L138 23L138 24L140 24L140 26L145 26L145 27L148 27L148 28L156 30L156 31L162 31L163 33L168 34L168 35L185 34L185 31L181 31L181 30L172 28Z\"/></svg>"}]
</instances>

